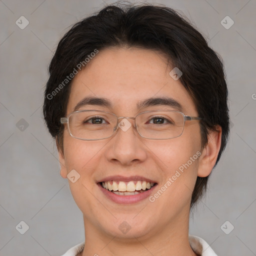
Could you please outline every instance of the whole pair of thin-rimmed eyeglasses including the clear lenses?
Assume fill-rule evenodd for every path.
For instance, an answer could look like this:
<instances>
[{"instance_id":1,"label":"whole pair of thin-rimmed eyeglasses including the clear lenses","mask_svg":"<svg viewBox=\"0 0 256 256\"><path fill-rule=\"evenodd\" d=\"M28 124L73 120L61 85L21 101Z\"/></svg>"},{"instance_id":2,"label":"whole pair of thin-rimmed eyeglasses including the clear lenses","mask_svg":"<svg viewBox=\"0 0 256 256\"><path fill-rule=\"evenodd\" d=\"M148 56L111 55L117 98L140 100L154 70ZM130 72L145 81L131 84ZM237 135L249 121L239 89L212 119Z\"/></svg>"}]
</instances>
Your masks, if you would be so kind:
<instances>
[{"instance_id":1,"label":"whole pair of thin-rimmed eyeglasses including the clear lenses","mask_svg":"<svg viewBox=\"0 0 256 256\"><path fill-rule=\"evenodd\" d=\"M119 122L119 119L124 119ZM125 121L126 119L126 121ZM202 120L201 117L187 116L178 111L145 111L135 117L116 116L99 110L79 110L61 117L60 122L67 123L70 135L82 140L98 140L111 137L120 127L126 131L130 126L127 119L135 120L135 128L143 138L169 139L182 134L185 121Z\"/></svg>"}]
</instances>

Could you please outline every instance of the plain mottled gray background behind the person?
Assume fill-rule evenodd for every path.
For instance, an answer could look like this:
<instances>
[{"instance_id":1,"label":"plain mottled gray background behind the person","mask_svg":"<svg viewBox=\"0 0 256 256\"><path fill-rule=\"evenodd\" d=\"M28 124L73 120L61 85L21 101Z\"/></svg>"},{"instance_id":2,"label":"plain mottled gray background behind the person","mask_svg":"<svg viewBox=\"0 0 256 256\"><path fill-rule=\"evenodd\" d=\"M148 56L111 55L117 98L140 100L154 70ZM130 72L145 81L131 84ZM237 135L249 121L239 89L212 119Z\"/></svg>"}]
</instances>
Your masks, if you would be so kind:
<instances>
[{"instance_id":1,"label":"plain mottled gray background behind the person","mask_svg":"<svg viewBox=\"0 0 256 256\"><path fill-rule=\"evenodd\" d=\"M155 2L196 24L222 56L227 74L230 140L191 215L190 233L218 255L256 255L256 1ZM41 106L59 39L104 5L101 0L0 0L0 255L60 255L84 239L82 214L59 175ZM21 15L29 21L24 29L15 24ZM234 21L229 29L220 23L226 15ZM29 226L23 235L15 228L21 220ZM226 220L234 226L229 234L220 228ZM230 223L224 224L226 232Z\"/></svg>"}]
</instances>

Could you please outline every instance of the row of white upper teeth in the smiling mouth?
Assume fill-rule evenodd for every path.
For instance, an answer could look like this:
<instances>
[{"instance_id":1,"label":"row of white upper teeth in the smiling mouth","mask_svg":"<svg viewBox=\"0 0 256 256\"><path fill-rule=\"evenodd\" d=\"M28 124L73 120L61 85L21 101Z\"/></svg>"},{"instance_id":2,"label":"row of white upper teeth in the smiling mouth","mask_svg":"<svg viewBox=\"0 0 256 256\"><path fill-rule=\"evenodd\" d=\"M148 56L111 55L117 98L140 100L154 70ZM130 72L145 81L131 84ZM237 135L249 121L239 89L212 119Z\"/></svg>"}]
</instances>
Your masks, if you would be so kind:
<instances>
[{"instance_id":1,"label":"row of white upper teeth in the smiling mouth","mask_svg":"<svg viewBox=\"0 0 256 256\"><path fill-rule=\"evenodd\" d=\"M154 183L150 183L147 181L129 181L129 182L123 182L123 181L104 181L101 182L102 187L104 187L105 189L108 189L109 191L113 190L113 191L128 191L128 192L133 192L135 190L145 190L150 189Z\"/></svg>"}]
</instances>

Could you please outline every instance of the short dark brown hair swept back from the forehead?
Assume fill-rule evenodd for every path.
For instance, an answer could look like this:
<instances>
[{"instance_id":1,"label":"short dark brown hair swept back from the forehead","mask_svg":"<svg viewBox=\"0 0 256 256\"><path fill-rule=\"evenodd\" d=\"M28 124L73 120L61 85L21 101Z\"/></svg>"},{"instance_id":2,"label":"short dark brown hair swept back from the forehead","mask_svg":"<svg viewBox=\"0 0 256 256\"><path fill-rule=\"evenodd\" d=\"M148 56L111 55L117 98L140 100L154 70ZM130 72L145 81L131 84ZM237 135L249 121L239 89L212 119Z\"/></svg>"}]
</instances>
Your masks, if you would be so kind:
<instances>
[{"instance_id":1,"label":"short dark brown hair swept back from the forehead","mask_svg":"<svg viewBox=\"0 0 256 256\"><path fill-rule=\"evenodd\" d=\"M168 56L173 67L182 71L179 79L191 95L198 115L203 117L200 121L202 147L207 143L209 130L218 125L222 128L218 161L229 132L227 87L221 58L180 14L154 5L106 6L74 24L59 41L49 65L43 114L61 150L63 125L59 119L66 115L72 81L65 79L95 49L100 51L110 46L143 47ZM197 177L191 205L203 194L207 178Z\"/></svg>"}]
</instances>

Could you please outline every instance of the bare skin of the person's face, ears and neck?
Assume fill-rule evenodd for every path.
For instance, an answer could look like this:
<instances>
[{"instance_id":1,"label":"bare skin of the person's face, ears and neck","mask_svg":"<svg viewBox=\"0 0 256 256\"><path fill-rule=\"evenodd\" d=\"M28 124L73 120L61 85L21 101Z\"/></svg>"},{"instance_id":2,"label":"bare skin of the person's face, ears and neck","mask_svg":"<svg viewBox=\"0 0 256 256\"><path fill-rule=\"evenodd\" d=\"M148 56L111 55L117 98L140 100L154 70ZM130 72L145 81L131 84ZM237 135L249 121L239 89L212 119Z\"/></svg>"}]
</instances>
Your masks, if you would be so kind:
<instances>
[{"instance_id":1,"label":"bare skin of the person's face, ears and neck","mask_svg":"<svg viewBox=\"0 0 256 256\"><path fill-rule=\"evenodd\" d=\"M166 106L136 109L136 103L149 97L168 96L182 105L185 115L198 116L181 82L170 77L171 69L166 58L152 50L100 50L73 78L66 116L85 96L109 99L111 108L86 107L117 116L165 109ZM134 120L128 120L134 125ZM196 177L210 174L220 138L221 128L210 132L208 144L201 149L198 120L186 121L181 136L163 140L142 138L131 126L125 132L117 129L110 138L86 141L71 137L65 124L63 152L59 149L60 174L66 178L72 169L80 174L76 182L68 180L85 226L85 247L79 255L196 255L188 242L191 194ZM145 198L137 203L118 204L108 199L96 184L109 175L141 175L156 180L159 189L197 151L201 156L154 202ZM123 221L130 225L126 234L118 228Z\"/></svg>"}]
</instances>

